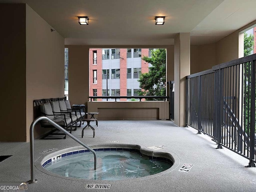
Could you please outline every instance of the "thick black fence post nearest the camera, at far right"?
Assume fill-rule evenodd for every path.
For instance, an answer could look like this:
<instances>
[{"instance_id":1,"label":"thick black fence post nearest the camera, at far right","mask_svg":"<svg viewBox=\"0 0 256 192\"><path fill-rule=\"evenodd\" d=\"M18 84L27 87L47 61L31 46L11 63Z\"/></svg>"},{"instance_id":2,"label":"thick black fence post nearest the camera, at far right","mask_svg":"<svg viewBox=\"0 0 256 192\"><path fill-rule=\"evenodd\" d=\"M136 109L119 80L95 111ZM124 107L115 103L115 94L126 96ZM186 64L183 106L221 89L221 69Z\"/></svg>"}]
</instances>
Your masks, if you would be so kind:
<instances>
[{"instance_id":1,"label":"thick black fence post nearest the camera, at far right","mask_svg":"<svg viewBox=\"0 0 256 192\"><path fill-rule=\"evenodd\" d=\"M251 107L250 107L250 162L249 167L255 167L255 78L256 78L256 60L252 61L251 73Z\"/></svg>"}]
</instances>

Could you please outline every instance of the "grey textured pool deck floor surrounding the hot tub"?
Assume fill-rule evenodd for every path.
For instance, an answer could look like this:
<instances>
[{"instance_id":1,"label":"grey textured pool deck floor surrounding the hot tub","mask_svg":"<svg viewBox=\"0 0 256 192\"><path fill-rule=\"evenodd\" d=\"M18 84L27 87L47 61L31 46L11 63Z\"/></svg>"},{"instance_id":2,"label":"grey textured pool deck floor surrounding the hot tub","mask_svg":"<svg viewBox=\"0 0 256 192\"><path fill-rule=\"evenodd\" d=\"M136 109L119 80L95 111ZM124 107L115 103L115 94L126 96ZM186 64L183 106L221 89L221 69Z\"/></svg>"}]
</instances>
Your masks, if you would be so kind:
<instances>
[{"instance_id":1,"label":"grey textured pool deck floor surrounding the hot tub","mask_svg":"<svg viewBox=\"0 0 256 192\"><path fill-rule=\"evenodd\" d=\"M256 168L247 168L249 160L226 149L216 149L216 143L193 128L177 127L172 121L99 121L92 130L86 128L81 138L82 125L72 132L88 146L136 144L142 148L166 146L153 152L168 152L175 166L160 174L127 180L81 180L46 174L35 168L37 183L28 185L31 192L255 192ZM66 140L35 140L36 164L44 156L56 152L40 152L78 146L71 138ZM150 150L150 149L148 149ZM1 155L13 155L0 162L0 182L27 182L30 180L30 143L0 142ZM189 172L181 172L183 164L193 164ZM86 184L111 184L110 189L86 189Z\"/></svg>"}]
</instances>

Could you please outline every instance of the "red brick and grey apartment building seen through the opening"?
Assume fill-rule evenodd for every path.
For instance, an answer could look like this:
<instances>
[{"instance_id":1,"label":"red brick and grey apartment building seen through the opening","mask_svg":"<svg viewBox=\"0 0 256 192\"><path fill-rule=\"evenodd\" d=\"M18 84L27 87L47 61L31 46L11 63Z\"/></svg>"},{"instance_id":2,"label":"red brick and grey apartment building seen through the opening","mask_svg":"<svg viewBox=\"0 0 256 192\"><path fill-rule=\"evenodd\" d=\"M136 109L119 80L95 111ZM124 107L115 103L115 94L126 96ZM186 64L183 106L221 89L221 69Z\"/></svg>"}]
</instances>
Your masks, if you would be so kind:
<instances>
[{"instance_id":1,"label":"red brick and grey apartment building seen through the opening","mask_svg":"<svg viewBox=\"0 0 256 192\"><path fill-rule=\"evenodd\" d=\"M90 49L89 96L138 96L140 90L138 78L141 73L148 72L148 67L151 66L141 57L150 56L152 50L152 48Z\"/></svg>"}]
</instances>

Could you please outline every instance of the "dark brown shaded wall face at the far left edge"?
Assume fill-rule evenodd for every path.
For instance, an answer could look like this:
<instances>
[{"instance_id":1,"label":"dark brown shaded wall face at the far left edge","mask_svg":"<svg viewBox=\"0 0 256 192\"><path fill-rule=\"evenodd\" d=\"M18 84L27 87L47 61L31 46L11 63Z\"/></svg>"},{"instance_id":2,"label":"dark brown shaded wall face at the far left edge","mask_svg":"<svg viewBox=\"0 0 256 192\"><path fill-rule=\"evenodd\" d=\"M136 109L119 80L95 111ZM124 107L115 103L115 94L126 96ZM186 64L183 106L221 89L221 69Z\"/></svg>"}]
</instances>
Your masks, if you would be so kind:
<instances>
[{"instance_id":1,"label":"dark brown shaded wall face at the far left edge","mask_svg":"<svg viewBox=\"0 0 256 192\"><path fill-rule=\"evenodd\" d=\"M0 23L0 141L26 141L25 4L0 4Z\"/></svg>"}]
</instances>

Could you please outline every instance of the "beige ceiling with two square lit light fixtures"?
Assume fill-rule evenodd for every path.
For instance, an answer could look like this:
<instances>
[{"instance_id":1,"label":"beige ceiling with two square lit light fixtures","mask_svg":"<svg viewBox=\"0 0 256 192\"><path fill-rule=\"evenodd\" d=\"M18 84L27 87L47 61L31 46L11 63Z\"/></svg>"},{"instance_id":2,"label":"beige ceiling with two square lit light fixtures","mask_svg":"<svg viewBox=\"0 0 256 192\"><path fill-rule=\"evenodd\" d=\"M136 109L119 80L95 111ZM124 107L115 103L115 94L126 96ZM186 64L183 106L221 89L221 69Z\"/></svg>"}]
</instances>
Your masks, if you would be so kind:
<instances>
[{"instance_id":1,"label":"beige ceiling with two square lit light fixtures","mask_svg":"<svg viewBox=\"0 0 256 192\"><path fill-rule=\"evenodd\" d=\"M65 38L66 45L173 45L179 32L191 44L217 42L256 20L256 0L0 0L26 3ZM88 16L89 25L77 16ZM156 26L155 16L166 16Z\"/></svg>"}]
</instances>

